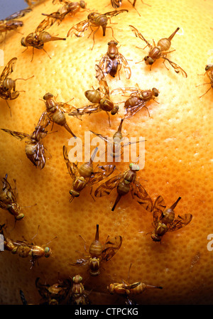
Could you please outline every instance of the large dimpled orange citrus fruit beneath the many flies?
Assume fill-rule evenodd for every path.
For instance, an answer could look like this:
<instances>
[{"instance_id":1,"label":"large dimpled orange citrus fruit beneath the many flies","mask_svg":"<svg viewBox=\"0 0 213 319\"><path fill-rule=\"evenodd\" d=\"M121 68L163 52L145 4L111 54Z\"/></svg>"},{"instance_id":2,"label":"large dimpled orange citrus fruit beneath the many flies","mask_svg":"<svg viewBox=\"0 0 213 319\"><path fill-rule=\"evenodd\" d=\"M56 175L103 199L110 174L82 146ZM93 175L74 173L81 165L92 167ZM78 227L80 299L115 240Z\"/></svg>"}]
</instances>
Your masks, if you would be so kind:
<instances>
[{"instance_id":1,"label":"large dimpled orange citrus fruit beneath the many flies","mask_svg":"<svg viewBox=\"0 0 213 319\"><path fill-rule=\"evenodd\" d=\"M109 0L102 3L88 1L87 7L101 13L113 11ZM148 2L148 0L147 0ZM119 40L119 52L128 59L131 67L131 79L125 78L121 70L118 75L107 75L109 90L117 87L136 87L150 90L156 87L159 96L148 102L146 109L141 109L123 124L122 133L129 137L142 136L145 142L145 166L141 166L137 176L141 185L151 196L153 202L162 195L167 207L181 196L175 208L175 216L192 214L192 221L186 227L175 232L168 232L161 244L153 242L153 213L143 210L131 194L121 198L114 212L111 207L116 199L116 190L102 198L92 199L90 188L84 188L79 198L70 202L69 190L72 179L62 154L62 146L69 145L72 137L62 126L54 125L53 133L43 139L47 161L43 170L36 169L25 154L24 141L0 132L1 178L8 174L13 185L16 179L18 203L25 217L16 222L6 210L1 210L1 225L6 222L6 232L11 239L23 240L43 245L55 236L49 246L53 254L50 258L40 258L39 264L31 269L30 258L21 258L17 254L1 252L0 283L1 304L21 303L19 290L26 296L28 303L39 303L40 295L35 288L35 279L53 283L60 279L72 278L75 274L83 277L84 287L93 304L124 304L122 296L110 295L107 286L112 282L121 282L128 276L129 282L141 281L163 289L147 290L135 296L140 304L208 304L212 303L212 95L213 90L204 92L209 82L204 74L204 67L212 63L212 1L149 1L151 6L136 2L133 9L128 1L123 1L121 9L128 9L118 16L111 17L114 37ZM31 134L40 114L45 110L42 101L47 92L51 92L60 102L67 102L75 107L88 105L84 96L86 90L98 87L94 65L107 52L107 43L112 39L111 29L106 36L102 29L95 33L94 48L90 29L82 38L75 36L63 41L45 43L45 50L35 49L33 61L32 48L23 53L21 38L35 31L44 18L41 13L57 11L61 4L45 1L33 8L31 13L21 18L24 25L20 32L11 31L6 41L1 42L4 50L4 65L17 57L16 68L11 77L33 78L17 81L16 90L20 92L17 99L9 101L9 108L1 99L0 128ZM48 29L50 34L66 37L67 31L76 23L87 18L87 11L66 16L60 23ZM113 24L115 23L115 24ZM177 27L178 34L172 40L168 58L187 72L187 78L176 74L173 67L163 60L156 61L150 67L136 63L148 55L145 43L131 32L129 25L140 31L152 43L160 38L170 36ZM1 67L1 72L3 67ZM202 98L200 96L204 94ZM126 97L114 95L116 102ZM41 100L40 100L41 99ZM84 141L84 132L89 130L112 136L124 115L124 103L119 104L118 114L111 116L111 127L105 112L82 116L82 121L66 115L72 131ZM49 130L50 131L50 130ZM91 139L94 136L91 135ZM91 146L94 149L96 145ZM82 159L82 161L84 158ZM107 161L106 163L107 164ZM129 163L116 163L118 173L126 171ZM110 177L111 177L110 176ZM102 183L102 182L100 182ZM94 190L98 185L94 185ZM34 204L37 205L34 205ZM89 276L87 266L72 266L82 258L84 241L87 250L94 240L96 225L99 224L99 237L104 244L107 236L121 236L123 243L119 251L104 263L101 274Z\"/></svg>"}]
</instances>

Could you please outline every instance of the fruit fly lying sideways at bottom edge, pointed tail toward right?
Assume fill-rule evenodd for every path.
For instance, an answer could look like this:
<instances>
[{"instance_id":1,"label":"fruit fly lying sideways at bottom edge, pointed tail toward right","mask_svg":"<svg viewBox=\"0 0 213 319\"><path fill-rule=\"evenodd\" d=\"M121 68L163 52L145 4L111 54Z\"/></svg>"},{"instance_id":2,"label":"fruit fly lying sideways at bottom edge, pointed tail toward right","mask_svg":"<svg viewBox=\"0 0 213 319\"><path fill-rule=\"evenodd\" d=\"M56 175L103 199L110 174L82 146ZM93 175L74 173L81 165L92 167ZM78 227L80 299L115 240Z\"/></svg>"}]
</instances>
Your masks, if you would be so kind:
<instances>
[{"instance_id":1,"label":"fruit fly lying sideways at bottom edge, pointed tail toward right","mask_svg":"<svg viewBox=\"0 0 213 319\"><path fill-rule=\"evenodd\" d=\"M130 269L131 269L131 264L129 267L129 271ZM136 283L129 283L129 276L127 281L122 280L121 283L110 283L110 285L107 286L109 293L111 294L116 293L118 295L126 296L126 298L129 296L139 295L143 293L143 291L145 291L146 289L153 289L153 288L163 289L163 287L161 286L147 285L146 283L141 283L141 281L137 281Z\"/></svg>"}]
</instances>

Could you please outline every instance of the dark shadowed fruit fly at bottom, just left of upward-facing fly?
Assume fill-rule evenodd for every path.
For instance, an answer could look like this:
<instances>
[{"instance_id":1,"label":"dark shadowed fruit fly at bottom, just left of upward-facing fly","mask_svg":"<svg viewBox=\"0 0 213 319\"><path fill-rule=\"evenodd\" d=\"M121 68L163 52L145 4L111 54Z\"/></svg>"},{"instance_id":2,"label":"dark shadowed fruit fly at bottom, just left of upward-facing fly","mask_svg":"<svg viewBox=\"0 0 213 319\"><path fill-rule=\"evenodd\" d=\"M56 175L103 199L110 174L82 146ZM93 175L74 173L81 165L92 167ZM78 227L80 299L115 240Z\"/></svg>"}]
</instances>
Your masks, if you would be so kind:
<instances>
[{"instance_id":1,"label":"dark shadowed fruit fly at bottom, just left of upward-facing fly","mask_svg":"<svg viewBox=\"0 0 213 319\"><path fill-rule=\"evenodd\" d=\"M71 288L71 281L70 279L65 279L50 286L40 283L40 278L36 278L35 287L38 289L40 296L45 300L45 303L48 303L48 305L59 305L67 298Z\"/></svg>"}]
</instances>

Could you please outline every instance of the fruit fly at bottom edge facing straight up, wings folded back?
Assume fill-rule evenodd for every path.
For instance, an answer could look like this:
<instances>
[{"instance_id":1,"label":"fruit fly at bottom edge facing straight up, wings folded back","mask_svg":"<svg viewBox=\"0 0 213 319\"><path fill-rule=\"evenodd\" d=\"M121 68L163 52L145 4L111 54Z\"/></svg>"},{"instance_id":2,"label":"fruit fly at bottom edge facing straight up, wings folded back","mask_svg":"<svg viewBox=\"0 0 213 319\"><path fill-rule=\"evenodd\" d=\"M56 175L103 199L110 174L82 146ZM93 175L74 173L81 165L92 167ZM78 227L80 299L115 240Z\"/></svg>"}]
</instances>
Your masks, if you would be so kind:
<instances>
[{"instance_id":1,"label":"fruit fly at bottom edge facing straight up, wings folded back","mask_svg":"<svg viewBox=\"0 0 213 319\"><path fill-rule=\"evenodd\" d=\"M86 293L84 289L84 285L82 283L82 276L76 275L72 277L72 293L70 296L69 304L71 305L88 305L89 300L87 298L88 293Z\"/></svg>"}]
</instances>

